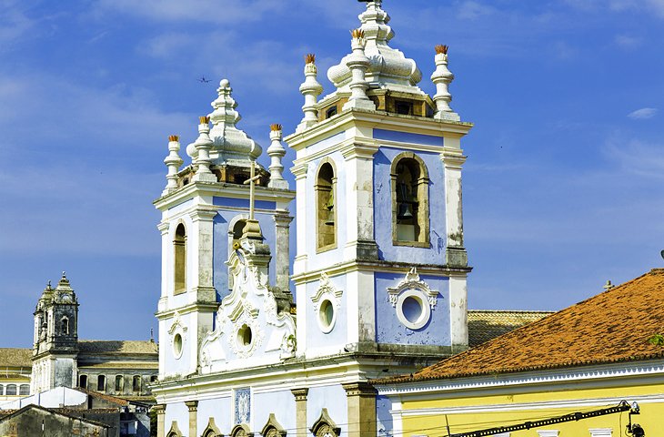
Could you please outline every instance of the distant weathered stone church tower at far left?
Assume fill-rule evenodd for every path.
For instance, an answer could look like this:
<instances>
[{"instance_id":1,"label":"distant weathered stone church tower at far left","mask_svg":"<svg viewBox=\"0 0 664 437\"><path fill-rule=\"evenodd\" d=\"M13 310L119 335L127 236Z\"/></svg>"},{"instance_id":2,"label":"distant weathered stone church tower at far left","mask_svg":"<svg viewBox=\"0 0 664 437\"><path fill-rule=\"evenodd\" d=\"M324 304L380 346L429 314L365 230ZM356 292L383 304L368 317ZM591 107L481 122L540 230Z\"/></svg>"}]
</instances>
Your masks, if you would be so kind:
<instances>
[{"instance_id":1,"label":"distant weathered stone church tower at far left","mask_svg":"<svg viewBox=\"0 0 664 437\"><path fill-rule=\"evenodd\" d=\"M78 300L65 273L46 286L35 309L32 393L76 386Z\"/></svg>"}]
</instances>

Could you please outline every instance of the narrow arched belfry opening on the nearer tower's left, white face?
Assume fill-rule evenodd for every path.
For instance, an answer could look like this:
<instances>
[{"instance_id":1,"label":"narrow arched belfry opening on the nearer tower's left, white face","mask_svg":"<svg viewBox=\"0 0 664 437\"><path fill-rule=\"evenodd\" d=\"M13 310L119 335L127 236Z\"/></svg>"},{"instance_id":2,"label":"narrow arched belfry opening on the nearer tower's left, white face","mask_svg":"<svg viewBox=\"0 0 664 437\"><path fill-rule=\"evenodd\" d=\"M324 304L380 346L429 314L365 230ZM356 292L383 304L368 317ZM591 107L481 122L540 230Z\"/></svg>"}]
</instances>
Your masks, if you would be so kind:
<instances>
[{"instance_id":1,"label":"narrow arched belfry opening on the nearer tower's left, white face","mask_svg":"<svg viewBox=\"0 0 664 437\"><path fill-rule=\"evenodd\" d=\"M337 177L331 159L327 158L318 168L316 178L317 249L337 247Z\"/></svg>"}]
</instances>

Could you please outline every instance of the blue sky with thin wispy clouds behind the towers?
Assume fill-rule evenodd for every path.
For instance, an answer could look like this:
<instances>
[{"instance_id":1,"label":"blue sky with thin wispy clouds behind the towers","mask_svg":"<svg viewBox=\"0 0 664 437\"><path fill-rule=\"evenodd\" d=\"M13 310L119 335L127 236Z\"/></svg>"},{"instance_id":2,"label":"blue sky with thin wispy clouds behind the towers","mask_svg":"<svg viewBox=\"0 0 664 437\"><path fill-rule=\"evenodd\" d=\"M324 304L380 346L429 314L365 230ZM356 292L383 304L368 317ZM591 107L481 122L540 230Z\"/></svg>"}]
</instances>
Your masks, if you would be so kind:
<instances>
[{"instance_id":1,"label":"blue sky with thin wispy clouds behind the towers","mask_svg":"<svg viewBox=\"0 0 664 437\"><path fill-rule=\"evenodd\" d=\"M558 310L664 264L664 0L384 8L429 94L433 46L450 46L452 107L476 124L463 142L471 308ZM81 338L148 339L167 136L196 138L222 77L264 149L269 123L293 132L302 56L317 54L330 92L361 9L0 0L0 346L31 346L35 302L62 270Z\"/></svg>"}]
</instances>

